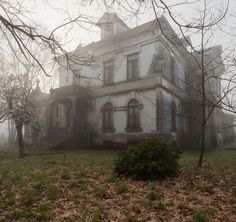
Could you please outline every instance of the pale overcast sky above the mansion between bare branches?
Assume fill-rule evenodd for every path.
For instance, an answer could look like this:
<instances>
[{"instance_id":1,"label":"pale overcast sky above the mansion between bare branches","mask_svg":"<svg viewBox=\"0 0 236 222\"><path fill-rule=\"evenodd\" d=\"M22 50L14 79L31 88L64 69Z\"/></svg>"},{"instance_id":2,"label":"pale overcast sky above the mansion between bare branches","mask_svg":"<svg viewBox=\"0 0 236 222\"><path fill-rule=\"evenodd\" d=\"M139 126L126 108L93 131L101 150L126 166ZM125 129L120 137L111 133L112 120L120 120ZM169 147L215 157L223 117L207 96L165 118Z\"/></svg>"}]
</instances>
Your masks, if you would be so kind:
<instances>
[{"instance_id":1,"label":"pale overcast sky above the mansion between bare branches","mask_svg":"<svg viewBox=\"0 0 236 222\"><path fill-rule=\"evenodd\" d=\"M70 15L71 18L75 18L78 15L84 15L89 17L92 22L96 22L107 10L104 4L97 3L103 2L102 0L93 1L92 4L89 4L90 0L31 0L26 2L29 11L32 12L29 17L32 17L33 20L37 21L40 25L47 28L48 30L52 30L53 28L61 25L63 22L68 21L68 15ZM177 4L182 2L182 0L167 0L166 2L168 4ZM221 7L219 3L222 2L222 0L215 0L213 2L213 7ZM225 3L226 0L223 2ZM200 8L202 3L203 1L198 1L194 5L175 6L173 9L179 18L184 17L185 20L188 20L189 18L191 19L197 15L195 9L198 7ZM113 11L119 14L119 16L130 27L135 27L155 18L155 14L150 6L142 9L138 16L131 16L131 13L128 13L126 9L119 7L119 9L116 8L116 10ZM234 16L236 15L236 0L230 0L230 14L233 16L228 17L224 24L224 28L227 30L227 32L231 32L233 28L236 29L236 19ZM179 20L181 21L182 19ZM84 26L83 28L77 25L74 25L73 27L68 26L67 28L72 29L66 38L65 32L67 30L60 29L56 32L56 35L59 36L64 43L67 43L66 47L70 50L75 49L79 44L88 44L92 41L98 41L100 38L100 30L98 27L96 27L96 25L87 23L81 24ZM193 41L196 40L197 42L198 39L196 36L192 36L192 38ZM224 44L225 47L228 47L229 45L232 46L232 43L236 43L235 37L226 34L224 35L223 33L215 33L215 38L212 42L212 44Z\"/></svg>"}]
</instances>

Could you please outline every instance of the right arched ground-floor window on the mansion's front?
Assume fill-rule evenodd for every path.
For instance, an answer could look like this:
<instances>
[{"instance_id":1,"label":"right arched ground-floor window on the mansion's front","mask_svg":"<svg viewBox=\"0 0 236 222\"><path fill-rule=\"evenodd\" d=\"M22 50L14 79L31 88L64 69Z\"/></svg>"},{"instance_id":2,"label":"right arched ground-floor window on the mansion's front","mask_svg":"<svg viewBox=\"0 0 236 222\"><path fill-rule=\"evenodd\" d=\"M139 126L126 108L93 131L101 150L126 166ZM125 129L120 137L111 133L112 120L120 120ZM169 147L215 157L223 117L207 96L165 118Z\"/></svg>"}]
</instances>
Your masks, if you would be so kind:
<instances>
[{"instance_id":1,"label":"right arched ground-floor window on the mansion's front","mask_svg":"<svg viewBox=\"0 0 236 222\"><path fill-rule=\"evenodd\" d=\"M139 110L139 102L136 99L130 100L128 103L128 129L140 128Z\"/></svg>"}]
</instances>

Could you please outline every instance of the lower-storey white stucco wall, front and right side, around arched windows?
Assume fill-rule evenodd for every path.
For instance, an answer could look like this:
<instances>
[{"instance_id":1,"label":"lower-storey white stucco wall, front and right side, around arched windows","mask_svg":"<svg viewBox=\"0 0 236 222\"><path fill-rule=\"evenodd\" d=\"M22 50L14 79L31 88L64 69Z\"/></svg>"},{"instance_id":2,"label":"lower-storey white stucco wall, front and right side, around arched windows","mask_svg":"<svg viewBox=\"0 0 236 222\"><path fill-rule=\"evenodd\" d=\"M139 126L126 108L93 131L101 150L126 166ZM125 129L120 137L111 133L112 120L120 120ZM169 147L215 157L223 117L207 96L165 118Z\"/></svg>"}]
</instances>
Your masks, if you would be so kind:
<instances>
[{"instance_id":1,"label":"lower-storey white stucco wall, front and right side, around arched windows","mask_svg":"<svg viewBox=\"0 0 236 222\"><path fill-rule=\"evenodd\" d=\"M163 103L169 104L169 102L174 98L176 102L177 112L180 112L181 100L177 97L173 97L170 93L165 90L161 90L163 96ZM93 100L94 110L89 115L89 122L91 129L96 134L96 142L102 143L103 140L112 140L120 135L124 136L127 139L129 135L144 135L144 134L158 134L158 133L171 133L171 119L169 123L165 125L161 132L157 130L156 118L157 118L157 95L160 93L160 89L152 89L138 92L130 92L119 95L111 95L106 97L100 97ZM140 104L142 104L142 109L140 109L140 126L142 131L140 132L127 132L127 105L131 99L137 99ZM107 103L111 102L114 106L113 120L114 120L114 129L115 132L104 133L102 130L103 122L103 113L102 108ZM168 112L165 110L166 113ZM166 114L165 113L165 114ZM170 116L170 113L168 113ZM165 115L166 116L166 115ZM164 118L164 117L163 117ZM176 116L176 126L177 131L180 132L183 130L183 121L182 118L179 118L179 115ZM119 142L126 143L125 139L120 139Z\"/></svg>"}]
</instances>

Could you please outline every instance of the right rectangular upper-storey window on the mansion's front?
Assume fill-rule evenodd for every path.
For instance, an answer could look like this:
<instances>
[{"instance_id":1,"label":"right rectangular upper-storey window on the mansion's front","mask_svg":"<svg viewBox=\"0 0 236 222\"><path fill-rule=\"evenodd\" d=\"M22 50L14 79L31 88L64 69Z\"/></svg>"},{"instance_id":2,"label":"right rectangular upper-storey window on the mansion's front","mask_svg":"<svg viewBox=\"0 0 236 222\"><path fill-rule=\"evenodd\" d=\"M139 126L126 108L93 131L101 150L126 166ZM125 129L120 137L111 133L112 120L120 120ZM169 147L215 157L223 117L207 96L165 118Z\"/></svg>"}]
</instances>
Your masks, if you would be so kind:
<instances>
[{"instance_id":1,"label":"right rectangular upper-storey window on the mansion's front","mask_svg":"<svg viewBox=\"0 0 236 222\"><path fill-rule=\"evenodd\" d=\"M134 53L127 57L127 79L136 79L138 75L138 53Z\"/></svg>"}]
</instances>

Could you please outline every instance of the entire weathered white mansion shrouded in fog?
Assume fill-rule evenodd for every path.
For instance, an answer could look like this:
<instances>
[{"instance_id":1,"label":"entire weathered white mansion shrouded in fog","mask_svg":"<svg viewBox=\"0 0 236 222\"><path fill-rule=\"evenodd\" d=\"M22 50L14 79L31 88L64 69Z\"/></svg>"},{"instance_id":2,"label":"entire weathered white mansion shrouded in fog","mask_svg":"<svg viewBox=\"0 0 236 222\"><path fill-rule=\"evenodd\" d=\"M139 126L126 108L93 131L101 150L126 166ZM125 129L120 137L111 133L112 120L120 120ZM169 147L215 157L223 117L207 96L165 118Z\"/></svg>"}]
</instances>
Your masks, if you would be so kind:
<instances>
[{"instance_id":1,"label":"entire weathered white mansion shrouded in fog","mask_svg":"<svg viewBox=\"0 0 236 222\"><path fill-rule=\"evenodd\" d=\"M60 58L59 88L39 101L44 136L64 136L74 146L119 147L145 138L198 146L200 70L186 52L190 39L179 39L164 17L160 22L165 33L155 20L130 29L116 14L105 13L97 23L101 40L71 52L70 68ZM220 76L221 47L208 51L209 59L221 62L214 70ZM221 83L211 78L207 85L213 101ZM222 113L215 108L208 121L209 147L224 140Z\"/></svg>"}]
</instances>

